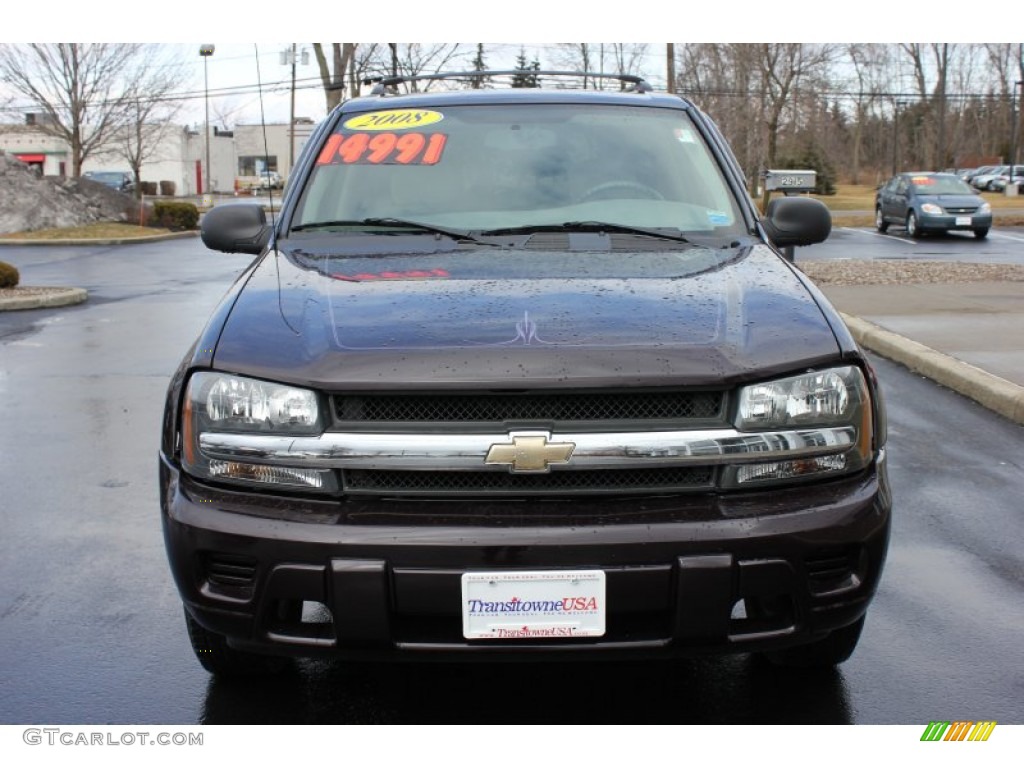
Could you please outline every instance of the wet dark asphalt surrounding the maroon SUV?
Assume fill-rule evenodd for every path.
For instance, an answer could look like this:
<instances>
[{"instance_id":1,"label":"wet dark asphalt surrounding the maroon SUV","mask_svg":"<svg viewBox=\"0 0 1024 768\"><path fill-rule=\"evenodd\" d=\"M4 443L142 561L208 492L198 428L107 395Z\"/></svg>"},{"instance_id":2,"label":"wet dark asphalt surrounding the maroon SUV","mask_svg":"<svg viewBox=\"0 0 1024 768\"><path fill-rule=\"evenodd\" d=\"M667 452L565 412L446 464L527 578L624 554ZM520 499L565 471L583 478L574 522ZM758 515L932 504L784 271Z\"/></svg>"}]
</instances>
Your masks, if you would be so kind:
<instances>
[{"instance_id":1,"label":"wet dark asphalt surrounding the maroon SUV","mask_svg":"<svg viewBox=\"0 0 1024 768\"><path fill-rule=\"evenodd\" d=\"M168 377L249 262L198 241L0 249L87 303L0 313L0 723L1024 723L1024 428L881 358L895 517L836 671L302 663L212 680L160 530Z\"/></svg>"}]
</instances>

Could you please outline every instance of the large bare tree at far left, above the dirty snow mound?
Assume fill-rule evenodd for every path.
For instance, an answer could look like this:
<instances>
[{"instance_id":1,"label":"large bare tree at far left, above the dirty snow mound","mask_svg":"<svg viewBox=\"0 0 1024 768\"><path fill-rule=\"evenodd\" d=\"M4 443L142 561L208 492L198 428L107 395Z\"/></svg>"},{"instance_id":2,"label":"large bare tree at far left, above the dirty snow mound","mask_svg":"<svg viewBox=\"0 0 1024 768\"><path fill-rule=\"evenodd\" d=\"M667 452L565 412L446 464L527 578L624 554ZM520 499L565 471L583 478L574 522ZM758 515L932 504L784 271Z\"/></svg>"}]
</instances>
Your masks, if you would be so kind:
<instances>
[{"instance_id":1,"label":"large bare tree at far left, above the dirty snow mound","mask_svg":"<svg viewBox=\"0 0 1024 768\"><path fill-rule=\"evenodd\" d=\"M41 130L68 142L77 177L86 158L115 145L131 123L140 73L155 50L137 43L4 45L0 81L37 106Z\"/></svg>"}]
</instances>

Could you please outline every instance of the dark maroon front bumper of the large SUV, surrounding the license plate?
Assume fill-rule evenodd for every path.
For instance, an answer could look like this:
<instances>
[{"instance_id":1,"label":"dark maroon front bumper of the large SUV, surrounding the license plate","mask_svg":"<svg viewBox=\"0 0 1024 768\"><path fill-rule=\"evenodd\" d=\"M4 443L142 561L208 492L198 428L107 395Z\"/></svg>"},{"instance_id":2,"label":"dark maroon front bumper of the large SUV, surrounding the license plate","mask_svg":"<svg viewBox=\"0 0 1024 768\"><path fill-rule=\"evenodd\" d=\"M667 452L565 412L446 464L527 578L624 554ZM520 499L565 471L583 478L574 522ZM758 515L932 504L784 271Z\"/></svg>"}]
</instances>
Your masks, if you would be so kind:
<instances>
[{"instance_id":1,"label":"dark maroon front bumper of the large SUV, surrounding the license plate","mask_svg":"<svg viewBox=\"0 0 1024 768\"><path fill-rule=\"evenodd\" d=\"M550 504L253 497L198 484L162 458L161 499L171 569L201 625L239 649L366 659L809 642L866 610L891 509L884 458L799 488ZM545 569L606 573L603 637L463 637L462 573Z\"/></svg>"}]
</instances>

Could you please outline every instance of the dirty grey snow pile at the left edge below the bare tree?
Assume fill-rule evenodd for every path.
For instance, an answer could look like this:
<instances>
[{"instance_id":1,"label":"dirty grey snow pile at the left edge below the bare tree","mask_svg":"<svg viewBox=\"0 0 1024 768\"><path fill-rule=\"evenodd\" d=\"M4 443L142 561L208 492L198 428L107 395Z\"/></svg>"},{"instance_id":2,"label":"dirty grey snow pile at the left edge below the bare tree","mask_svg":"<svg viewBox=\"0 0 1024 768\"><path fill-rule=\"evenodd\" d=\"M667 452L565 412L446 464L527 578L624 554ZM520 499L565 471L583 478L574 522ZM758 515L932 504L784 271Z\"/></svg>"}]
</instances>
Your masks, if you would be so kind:
<instances>
[{"instance_id":1,"label":"dirty grey snow pile at the left edge below the bare tree","mask_svg":"<svg viewBox=\"0 0 1024 768\"><path fill-rule=\"evenodd\" d=\"M89 179L40 177L0 152L0 234L137 218L127 195Z\"/></svg>"}]
</instances>

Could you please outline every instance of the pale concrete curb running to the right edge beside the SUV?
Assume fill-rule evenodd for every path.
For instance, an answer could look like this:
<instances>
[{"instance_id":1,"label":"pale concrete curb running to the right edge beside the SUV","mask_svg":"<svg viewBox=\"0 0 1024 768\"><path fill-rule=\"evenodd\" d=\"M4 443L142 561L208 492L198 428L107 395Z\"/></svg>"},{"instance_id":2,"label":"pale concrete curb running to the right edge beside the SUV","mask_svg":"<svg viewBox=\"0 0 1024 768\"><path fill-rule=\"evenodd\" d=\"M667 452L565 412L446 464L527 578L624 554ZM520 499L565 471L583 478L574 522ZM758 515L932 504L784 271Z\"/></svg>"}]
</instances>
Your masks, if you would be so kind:
<instances>
[{"instance_id":1,"label":"pale concrete curb running to the right edge beside the SUV","mask_svg":"<svg viewBox=\"0 0 1024 768\"><path fill-rule=\"evenodd\" d=\"M857 343L866 349L1024 424L1024 387L860 317L843 314L843 319Z\"/></svg>"}]
</instances>

